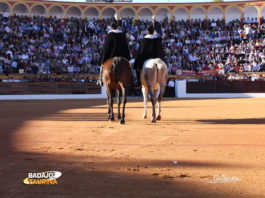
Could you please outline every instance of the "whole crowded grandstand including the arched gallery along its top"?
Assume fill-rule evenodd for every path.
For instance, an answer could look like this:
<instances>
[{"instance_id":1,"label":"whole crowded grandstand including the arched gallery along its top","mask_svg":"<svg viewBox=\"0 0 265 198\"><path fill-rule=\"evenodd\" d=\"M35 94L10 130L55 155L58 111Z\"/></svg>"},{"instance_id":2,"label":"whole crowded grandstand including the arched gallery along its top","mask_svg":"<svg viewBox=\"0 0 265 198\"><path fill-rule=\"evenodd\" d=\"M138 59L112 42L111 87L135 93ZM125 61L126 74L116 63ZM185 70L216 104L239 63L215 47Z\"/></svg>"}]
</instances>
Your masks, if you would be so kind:
<instances>
[{"instance_id":1,"label":"whole crowded grandstand including the arched gallery along its top","mask_svg":"<svg viewBox=\"0 0 265 198\"><path fill-rule=\"evenodd\" d=\"M255 2L242 3L241 7L219 4L179 4L178 8L174 7L176 4L166 5L171 12L158 4L151 7L154 10L150 13L144 5L135 12L133 5L121 4L121 9L116 9L106 3L101 4L104 9L99 12L98 4L93 3L52 2L47 9L38 1L30 6L0 2L0 73L21 73L15 79L25 74L98 74L100 49L115 11L122 17L120 25L127 35L132 58L156 14L157 31L163 37L172 75L209 77L263 72L265 6ZM78 6L83 6L83 10ZM241 76L244 77L237 77Z\"/></svg>"}]
</instances>

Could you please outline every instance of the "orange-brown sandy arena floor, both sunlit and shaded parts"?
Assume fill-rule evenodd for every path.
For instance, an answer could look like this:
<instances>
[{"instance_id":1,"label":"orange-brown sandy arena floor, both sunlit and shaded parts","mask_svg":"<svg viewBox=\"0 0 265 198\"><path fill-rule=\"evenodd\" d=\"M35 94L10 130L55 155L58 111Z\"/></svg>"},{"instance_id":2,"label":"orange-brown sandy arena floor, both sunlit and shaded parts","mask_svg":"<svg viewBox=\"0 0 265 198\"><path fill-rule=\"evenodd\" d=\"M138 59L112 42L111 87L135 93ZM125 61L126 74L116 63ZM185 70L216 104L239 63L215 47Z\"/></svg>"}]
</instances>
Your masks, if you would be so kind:
<instances>
[{"instance_id":1,"label":"orange-brown sandy arena floor, both sunlit and shaded parts","mask_svg":"<svg viewBox=\"0 0 265 198\"><path fill-rule=\"evenodd\" d=\"M265 197L265 99L166 100L156 124L129 99L126 125L105 103L1 101L0 197ZM58 185L23 184L51 170Z\"/></svg>"}]
</instances>

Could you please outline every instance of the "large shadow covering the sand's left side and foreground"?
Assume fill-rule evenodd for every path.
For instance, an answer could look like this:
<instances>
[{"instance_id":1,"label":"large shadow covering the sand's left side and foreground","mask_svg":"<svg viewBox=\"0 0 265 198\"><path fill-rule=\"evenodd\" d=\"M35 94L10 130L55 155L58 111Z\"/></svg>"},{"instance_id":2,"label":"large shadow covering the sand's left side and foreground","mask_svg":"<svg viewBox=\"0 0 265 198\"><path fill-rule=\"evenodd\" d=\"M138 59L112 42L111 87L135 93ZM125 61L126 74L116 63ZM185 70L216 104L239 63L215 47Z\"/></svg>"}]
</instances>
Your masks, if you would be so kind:
<instances>
[{"instance_id":1,"label":"large shadow covering the sand's left side and foreground","mask_svg":"<svg viewBox=\"0 0 265 198\"><path fill-rule=\"evenodd\" d=\"M58 112L90 108L105 104L105 100L81 101L1 101L0 103L0 195L3 198L167 198L167 197L244 197L234 191L218 190L214 186L198 184L189 175L141 174L147 167L175 168L169 161L129 161L120 159L101 159L92 156L64 154L41 154L15 151L12 149L12 134L28 120L40 117L57 116L55 121L68 120L105 120L104 114L77 114L76 116L58 115ZM41 107L41 109L40 109ZM94 117L95 118L92 118ZM242 121L243 122L243 121ZM131 166L130 171L124 168ZM214 168L218 163L186 161L180 164L190 168ZM224 166L224 165L222 165ZM229 164L227 166L230 166ZM235 165L239 166L240 165ZM133 169L136 169L134 171ZM138 171L138 169L139 171ZM56 186L29 186L23 179L29 172L58 170L63 176ZM205 186L208 186L205 188Z\"/></svg>"}]
</instances>

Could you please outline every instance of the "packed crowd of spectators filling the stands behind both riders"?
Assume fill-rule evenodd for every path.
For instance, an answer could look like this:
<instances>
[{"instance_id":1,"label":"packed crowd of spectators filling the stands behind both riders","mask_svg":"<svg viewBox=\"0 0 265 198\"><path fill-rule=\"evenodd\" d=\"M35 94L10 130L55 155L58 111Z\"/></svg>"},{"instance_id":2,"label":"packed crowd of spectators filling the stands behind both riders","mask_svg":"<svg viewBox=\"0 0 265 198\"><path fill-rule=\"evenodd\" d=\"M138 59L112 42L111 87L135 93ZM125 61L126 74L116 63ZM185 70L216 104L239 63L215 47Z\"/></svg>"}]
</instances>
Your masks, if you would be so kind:
<instances>
[{"instance_id":1,"label":"packed crowd of spectators filling the stands behind both riders","mask_svg":"<svg viewBox=\"0 0 265 198\"><path fill-rule=\"evenodd\" d=\"M81 20L0 15L0 73L97 74L100 49L113 19ZM122 19L131 57L150 22ZM169 73L265 71L265 23L191 20L158 24Z\"/></svg>"}]
</instances>

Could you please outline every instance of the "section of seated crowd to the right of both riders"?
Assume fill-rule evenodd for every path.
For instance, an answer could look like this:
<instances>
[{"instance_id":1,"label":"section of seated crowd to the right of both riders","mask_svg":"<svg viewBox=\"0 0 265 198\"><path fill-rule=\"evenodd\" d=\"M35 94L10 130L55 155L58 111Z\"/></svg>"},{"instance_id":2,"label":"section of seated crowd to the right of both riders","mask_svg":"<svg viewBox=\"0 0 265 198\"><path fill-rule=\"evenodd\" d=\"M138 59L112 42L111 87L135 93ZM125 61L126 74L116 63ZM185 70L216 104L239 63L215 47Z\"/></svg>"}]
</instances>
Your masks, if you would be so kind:
<instances>
[{"instance_id":1,"label":"section of seated crowd to the right of both riders","mask_svg":"<svg viewBox=\"0 0 265 198\"><path fill-rule=\"evenodd\" d=\"M179 26L178 26L179 25ZM265 26L235 20L177 23L168 32L165 47L171 72L177 69L215 70L218 73L258 72L265 69ZM172 50L173 49L173 50Z\"/></svg>"}]
</instances>

